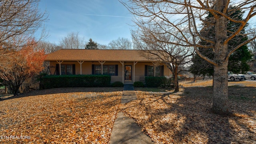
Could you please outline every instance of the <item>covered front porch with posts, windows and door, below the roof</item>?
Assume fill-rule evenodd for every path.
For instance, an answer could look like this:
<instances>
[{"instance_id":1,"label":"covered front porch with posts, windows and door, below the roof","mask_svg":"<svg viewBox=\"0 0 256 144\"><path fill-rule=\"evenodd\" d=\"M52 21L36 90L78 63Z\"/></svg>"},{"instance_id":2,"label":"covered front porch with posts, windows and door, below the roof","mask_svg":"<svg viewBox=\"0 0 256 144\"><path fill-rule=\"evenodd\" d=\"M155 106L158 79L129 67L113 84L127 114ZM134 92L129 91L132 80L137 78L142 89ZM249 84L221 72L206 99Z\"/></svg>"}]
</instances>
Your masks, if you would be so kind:
<instances>
[{"instance_id":1,"label":"covered front porch with posts, windows and door, below the roof","mask_svg":"<svg viewBox=\"0 0 256 144\"><path fill-rule=\"evenodd\" d=\"M165 67L165 68L164 68ZM127 61L50 61L50 74L108 74L111 83L145 83L146 76L169 76L170 71L158 62Z\"/></svg>"}]
</instances>

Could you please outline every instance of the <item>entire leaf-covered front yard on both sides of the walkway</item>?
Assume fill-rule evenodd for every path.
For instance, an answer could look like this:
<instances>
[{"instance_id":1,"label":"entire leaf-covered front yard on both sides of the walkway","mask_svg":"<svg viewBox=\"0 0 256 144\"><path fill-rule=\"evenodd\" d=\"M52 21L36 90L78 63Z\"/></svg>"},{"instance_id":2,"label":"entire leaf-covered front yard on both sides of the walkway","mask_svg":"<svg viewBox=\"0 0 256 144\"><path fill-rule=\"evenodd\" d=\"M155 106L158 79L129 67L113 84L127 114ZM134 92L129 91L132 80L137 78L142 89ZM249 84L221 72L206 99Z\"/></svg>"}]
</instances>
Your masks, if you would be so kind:
<instances>
[{"instance_id":1,"label":"entire leaf-covered front yard on both sides of the walkway","mask_svg":"<svg viewBox=\"0 0 256 144\"><path fill-rule=\"evenodd\" d=\"M135 88L138 100L123 105L122 88L57 88L4 98L0 143L107 144L122 110L156 144L255 144L255 82L229 82L230 116L212 114L212 88L199 83L178 93Z\"/></svg>"}]
</instances>

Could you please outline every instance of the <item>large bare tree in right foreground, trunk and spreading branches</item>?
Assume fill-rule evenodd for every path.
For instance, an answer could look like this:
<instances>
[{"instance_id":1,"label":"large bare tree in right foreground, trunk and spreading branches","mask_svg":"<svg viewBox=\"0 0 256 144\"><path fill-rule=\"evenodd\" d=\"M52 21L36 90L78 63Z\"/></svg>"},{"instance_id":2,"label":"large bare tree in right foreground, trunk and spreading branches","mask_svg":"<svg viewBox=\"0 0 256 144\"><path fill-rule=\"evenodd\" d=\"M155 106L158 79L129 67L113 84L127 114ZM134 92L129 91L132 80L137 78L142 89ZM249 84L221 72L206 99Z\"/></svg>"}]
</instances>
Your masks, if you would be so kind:
<instances>
[{"instance_id":1,"label":"large bare tree in right foreground, trunk and spreading branches","mask_svg":"<svg viewBox=\"0 0 256 144\"><path fill-rule=\"evenodd\" d=\"M153 36L168 34L176 39L168 41L169 44L182 47L193 46L200 57L214 65L212 111L216 114L228 114L228 58L240 46L256 37L246 39L231 49L228 49L228 42L234 40L233 38L237 35L241 37L247 35L241 31L248 20L256 15L255 0L128 0L122 4L134 14L134 22L142 31L150 29ZM243 20L231 16L236 10L246 12ZM213 20L205 19L208 13L213 15ZM228 21L237 23L236 28L227 30ZM202 26L202 24L205 25ZM212 26L215 27L214 37L206 38L200 33L202 28L207 32L207 29ZM155 29L161 31L154 31ZM228 32L230 32L229 35L227 35ZM200 44L200 40L205 40L210 45ZM158 41L164 42L161 39ZM212 48L214 58L204 56L198 48Z\"/></svg>"}]
</instances>

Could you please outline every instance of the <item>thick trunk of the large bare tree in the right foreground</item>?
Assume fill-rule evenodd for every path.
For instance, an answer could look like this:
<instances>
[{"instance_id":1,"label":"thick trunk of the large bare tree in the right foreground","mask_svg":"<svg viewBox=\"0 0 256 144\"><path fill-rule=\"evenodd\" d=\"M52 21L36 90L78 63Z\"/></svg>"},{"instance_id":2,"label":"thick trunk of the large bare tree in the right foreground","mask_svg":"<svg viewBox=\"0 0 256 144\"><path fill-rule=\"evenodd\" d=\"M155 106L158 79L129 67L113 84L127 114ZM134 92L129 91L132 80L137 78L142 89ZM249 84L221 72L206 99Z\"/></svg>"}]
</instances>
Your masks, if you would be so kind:
<instances>
[{"instance_id":1,"label":"thick trunk of the large bare tree in the right foreground","mask_svg":"<svg viewBox=\"0 0 256 144\"><path fill-rule=\"evenodd\" d=\"M216 2L216 10L224 12L226 0ZM227 18L217 14L215 23L214 44L214 78L213 78L213 104L212 110L216 114L228 114L228 44Z\"/></svg>"}]
</instances>

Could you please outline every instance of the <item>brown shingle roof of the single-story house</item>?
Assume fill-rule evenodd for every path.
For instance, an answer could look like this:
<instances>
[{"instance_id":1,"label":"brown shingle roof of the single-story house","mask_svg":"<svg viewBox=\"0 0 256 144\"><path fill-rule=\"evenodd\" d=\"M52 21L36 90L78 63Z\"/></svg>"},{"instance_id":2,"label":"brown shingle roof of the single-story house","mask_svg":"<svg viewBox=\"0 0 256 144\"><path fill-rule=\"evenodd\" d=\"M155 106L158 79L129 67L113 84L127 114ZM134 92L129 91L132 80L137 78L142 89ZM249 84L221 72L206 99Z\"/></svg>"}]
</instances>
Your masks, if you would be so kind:
<instances>
[{"instance_id":1,"label":"brown shingle roof of the single-story house","mask_svg":"<svg viewBox=\"0 0 256 144\"><path fill-rule=\"evenodd\" d=\"M61 49L47 55L45 61L152 61L140 50Z\"/></svg>"}]
</instances>

